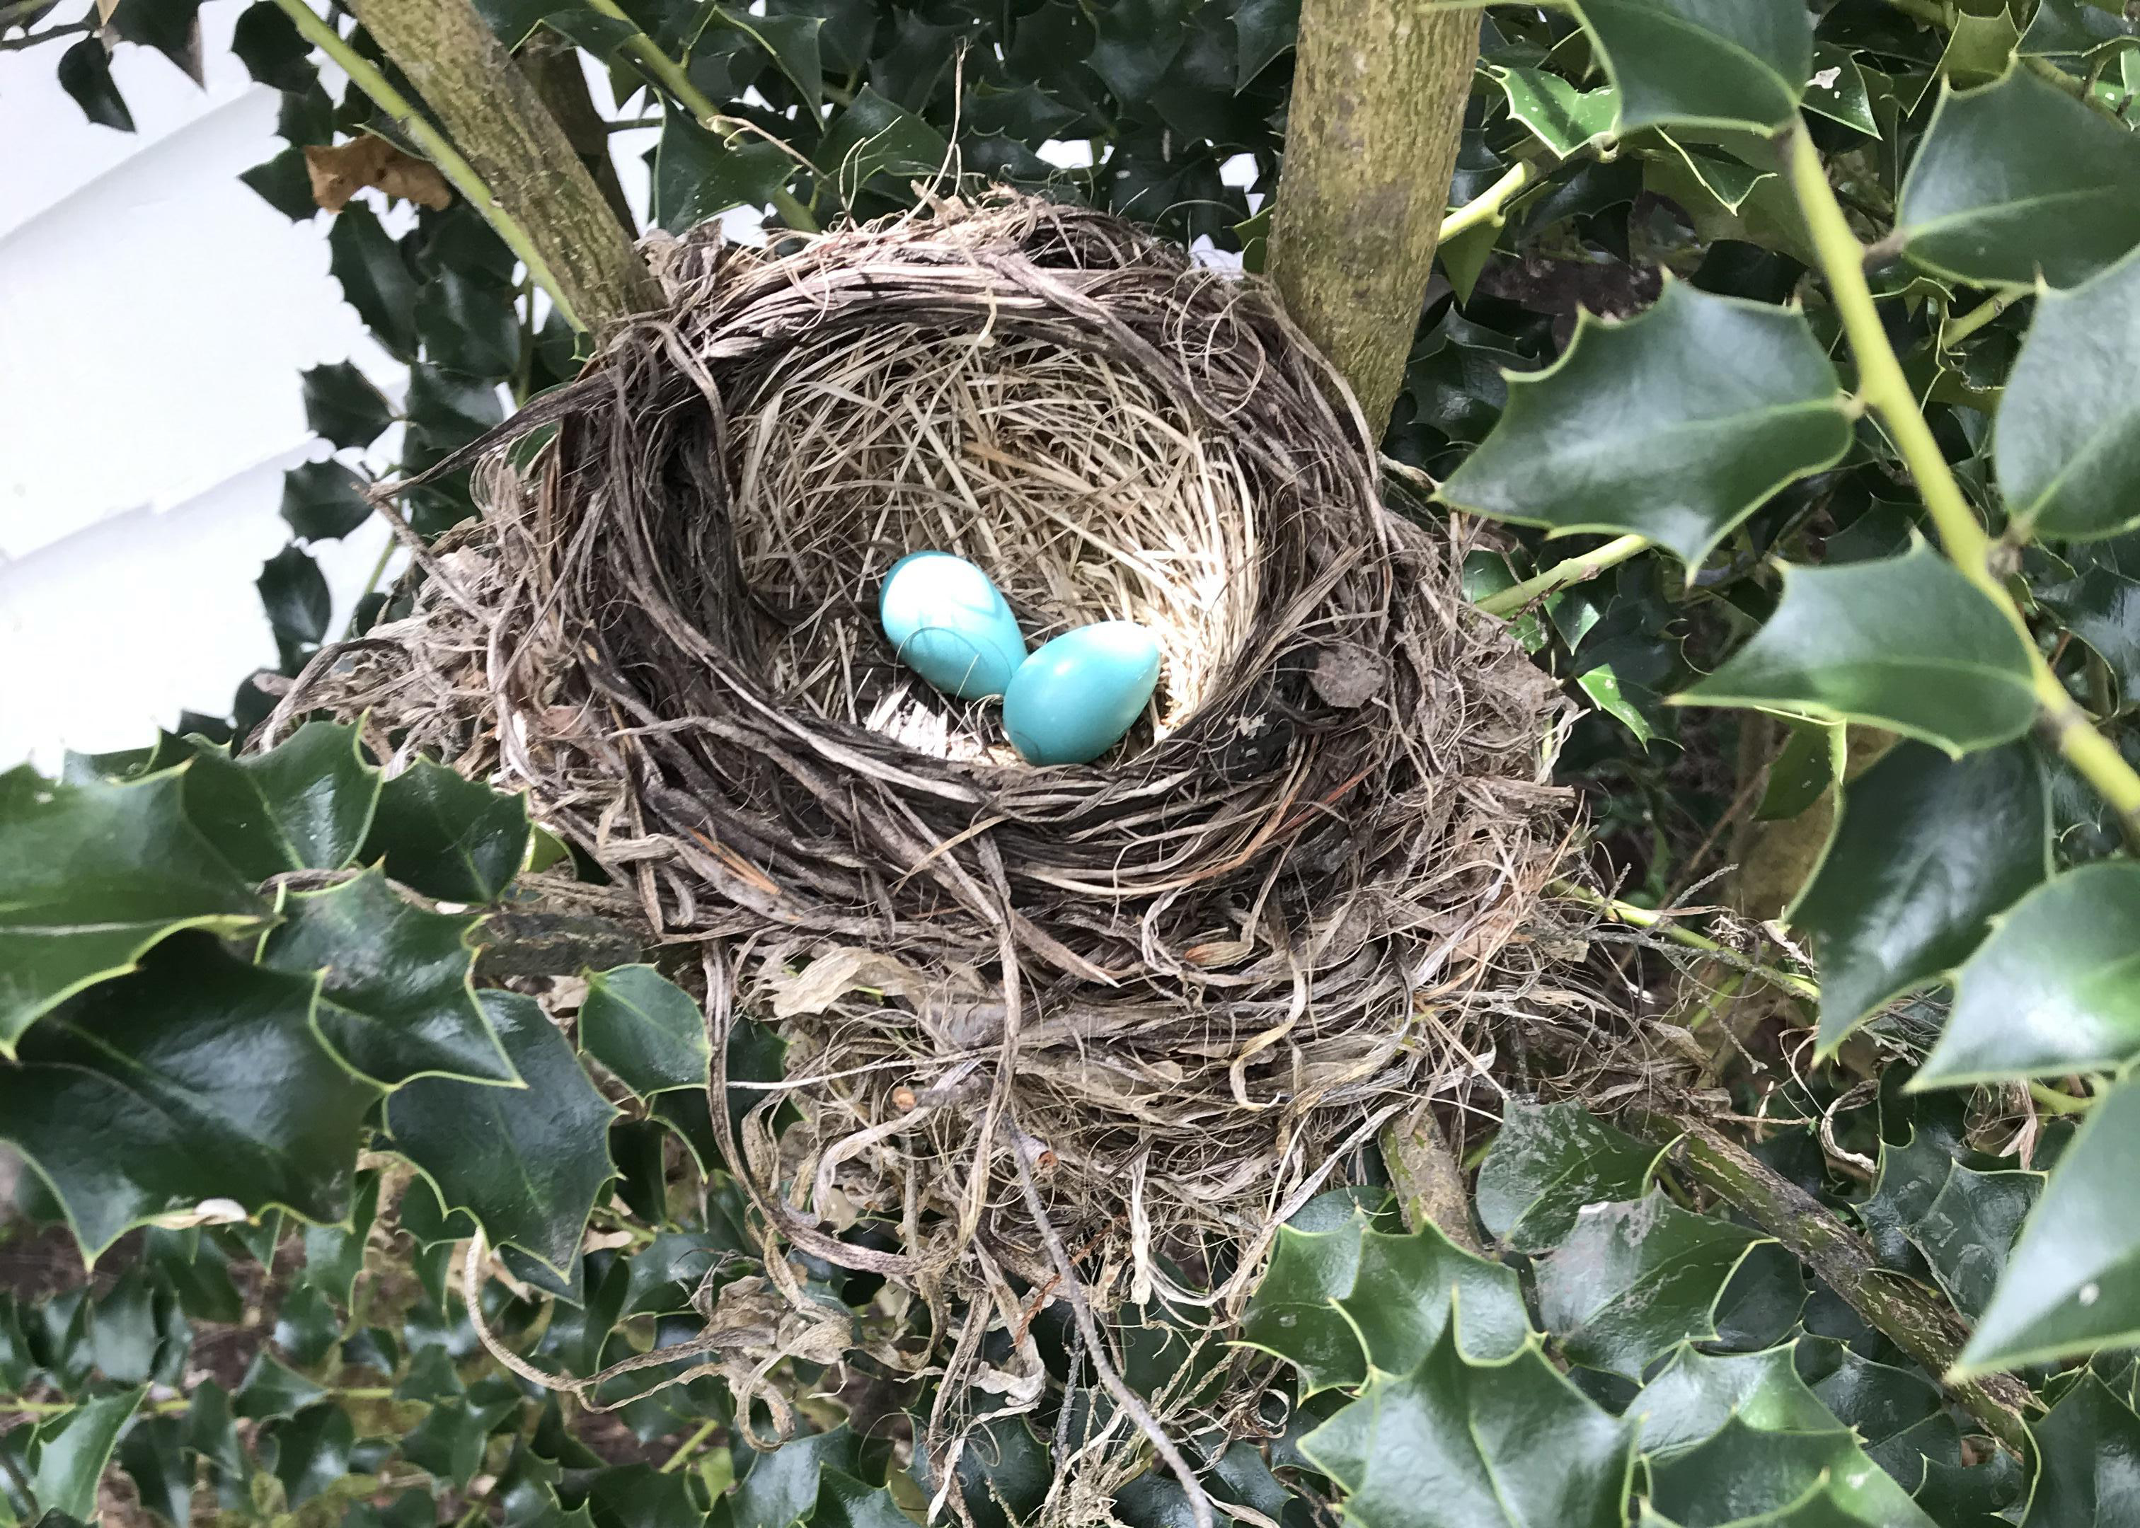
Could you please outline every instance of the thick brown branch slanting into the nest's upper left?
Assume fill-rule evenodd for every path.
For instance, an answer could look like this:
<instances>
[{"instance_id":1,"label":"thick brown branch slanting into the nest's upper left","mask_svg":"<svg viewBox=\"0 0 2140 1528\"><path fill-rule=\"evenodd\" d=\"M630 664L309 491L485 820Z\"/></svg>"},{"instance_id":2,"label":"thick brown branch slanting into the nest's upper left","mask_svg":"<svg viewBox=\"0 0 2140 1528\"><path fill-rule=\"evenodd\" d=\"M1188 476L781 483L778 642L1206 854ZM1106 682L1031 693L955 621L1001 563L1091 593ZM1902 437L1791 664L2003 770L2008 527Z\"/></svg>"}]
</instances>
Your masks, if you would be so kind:
<instances>
[{"instance_id":1,"label":"thick brown branch slanting into the nest's upper left","mask_svg":"<svg viewBox=\"0 0 2140 1528\"><path fill-rule=\"evenodd\" d=\"M351 9L482 175L496 212L526 233L580 327L659 306L661 289L565 131L469 0L351 0Z\"/></svg>"}]
</instances>

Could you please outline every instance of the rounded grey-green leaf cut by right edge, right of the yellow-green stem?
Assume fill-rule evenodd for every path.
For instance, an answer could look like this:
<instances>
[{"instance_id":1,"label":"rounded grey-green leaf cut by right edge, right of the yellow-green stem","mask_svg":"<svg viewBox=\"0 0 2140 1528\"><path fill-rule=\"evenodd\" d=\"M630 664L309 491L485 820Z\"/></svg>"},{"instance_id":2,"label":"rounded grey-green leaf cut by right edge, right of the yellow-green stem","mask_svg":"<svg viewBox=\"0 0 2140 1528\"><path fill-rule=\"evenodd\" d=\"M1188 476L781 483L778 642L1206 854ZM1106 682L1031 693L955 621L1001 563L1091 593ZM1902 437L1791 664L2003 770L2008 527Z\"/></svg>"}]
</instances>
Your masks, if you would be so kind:
<instances>
[{"instance_id":1,"label":"rounded grey-green leaf cut by right edge, right of the yellow-green stem","mask_svg":"<svg viewBox=\"0 0 2140 1528\"><path fill-rule=\"evenodd\" d=\"M2042 293L1992 460L2018 533L2099 537L2140 522L2140 250Z\"/></svg>"}]
</instances>

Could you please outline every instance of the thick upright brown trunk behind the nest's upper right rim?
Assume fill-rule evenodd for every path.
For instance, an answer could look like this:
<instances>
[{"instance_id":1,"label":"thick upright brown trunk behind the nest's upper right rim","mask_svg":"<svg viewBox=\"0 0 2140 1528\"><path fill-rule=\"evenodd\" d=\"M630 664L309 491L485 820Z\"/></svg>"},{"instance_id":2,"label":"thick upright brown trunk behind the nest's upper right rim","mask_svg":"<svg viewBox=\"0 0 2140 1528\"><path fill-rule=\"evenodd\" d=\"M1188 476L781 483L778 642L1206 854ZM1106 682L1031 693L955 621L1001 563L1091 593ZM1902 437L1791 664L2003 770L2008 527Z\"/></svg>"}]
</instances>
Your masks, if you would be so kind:
<instances>
[{"instance_id":1,"label":"thick upright brown trunk behind the nest's upper right rim","mask_svg":"<svg viewBox=\"0 0 2140 1528\"><path fill-rule=\"evenodd\" d=\"M1376 437L1404 383L1477 56L1479 11L1301 4L1269 270Z\"/></svg>"}]
</instances>

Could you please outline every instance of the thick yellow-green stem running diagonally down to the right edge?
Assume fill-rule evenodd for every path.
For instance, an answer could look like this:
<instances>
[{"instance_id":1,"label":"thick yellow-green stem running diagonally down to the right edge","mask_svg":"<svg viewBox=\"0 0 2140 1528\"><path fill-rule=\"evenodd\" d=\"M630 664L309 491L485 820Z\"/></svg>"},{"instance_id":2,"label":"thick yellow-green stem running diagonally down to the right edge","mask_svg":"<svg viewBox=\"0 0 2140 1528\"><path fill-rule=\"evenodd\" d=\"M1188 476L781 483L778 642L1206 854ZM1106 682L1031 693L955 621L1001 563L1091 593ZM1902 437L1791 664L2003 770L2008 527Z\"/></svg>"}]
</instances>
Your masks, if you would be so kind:
<instances>
[{"instance_id":1,"label":"thick yellow-green stem running diagonally down to the right edge","mask_svg":"<svg viewBox=\"0 0 2140 1528\"><path fill-rule=\"evenodd\" d=\"M2035 646L2029 618L2014 603L2005 580L1992 565L1992 539L1977 524L1975 511L1962 496L1962 486L1954 479L1954 469L1947 467L1947 456L1939 449L1932 426L1926 424L1924 411L1917 407L1917 394L1911 392L1909 379L1902 375L1902 362L1896 360L1894 345L1887 342L1872 289L1866 285L1864 246L1851 231L1849 218L1843 216L1843 203L1836 201L1836 193L1828 184L1828 169L1821 165L1821 150L1815 148L1813 135L1802 122L1791 128L1787 158L1791 190L1798 195L1800 212L1813 233L1813 248L1819 255L1821 274L1828 276L1828 291L1843 319L1843 332L1858 357L1860 398L1887 426L1909 475L1917 482L1917 494L1924 499L1947 561L2020 633L2029 655L2037 713L2052 745L2119 815L2125 837L2140 845L2140 773L2065 693L2065 685Z\"/></svg>"}]
</instances>

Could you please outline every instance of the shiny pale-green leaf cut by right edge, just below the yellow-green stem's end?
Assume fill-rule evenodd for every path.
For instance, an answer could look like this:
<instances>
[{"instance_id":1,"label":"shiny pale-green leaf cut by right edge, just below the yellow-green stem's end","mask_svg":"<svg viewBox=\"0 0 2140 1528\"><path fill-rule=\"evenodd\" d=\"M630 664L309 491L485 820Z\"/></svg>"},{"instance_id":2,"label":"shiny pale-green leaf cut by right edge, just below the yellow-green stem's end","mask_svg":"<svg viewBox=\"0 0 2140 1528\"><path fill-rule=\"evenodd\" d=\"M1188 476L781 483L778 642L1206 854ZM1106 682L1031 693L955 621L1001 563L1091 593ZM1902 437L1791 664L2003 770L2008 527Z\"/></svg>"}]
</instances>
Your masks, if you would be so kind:
<instances>
[{"instance_id":1,"label":"shiny pale-green leaf cut by right edge, just below the yellow-green stem's end","mask_svg":"<svg viewBox=\"0 0 2140 1528\"><path fill-rule=\"evenodd\" d=\"M2003 918L1956 978L1915 1087L2114 1070L2140 1055L2140 865L2082 865Z\"/></svg>"}]
</instances>

